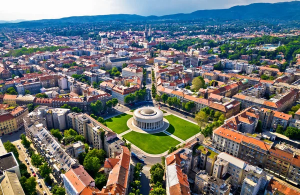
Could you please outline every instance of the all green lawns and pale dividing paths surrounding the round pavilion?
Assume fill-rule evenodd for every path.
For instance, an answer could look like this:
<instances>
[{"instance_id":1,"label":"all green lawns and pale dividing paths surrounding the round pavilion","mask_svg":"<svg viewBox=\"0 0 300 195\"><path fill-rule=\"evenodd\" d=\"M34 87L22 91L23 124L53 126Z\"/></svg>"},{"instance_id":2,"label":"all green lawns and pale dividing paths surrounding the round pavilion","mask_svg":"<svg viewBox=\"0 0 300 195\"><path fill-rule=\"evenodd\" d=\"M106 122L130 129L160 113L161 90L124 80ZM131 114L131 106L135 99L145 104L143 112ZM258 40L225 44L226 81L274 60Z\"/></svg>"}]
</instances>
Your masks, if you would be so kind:
<instances>
[{"instance_id":1,"label":"all green lawns and pale dividing paths surrounding the round pavilion","mask_svg":"<svg viewBox=\"0 0 300 195\"><path fill-rule=\"evenodd\" d=\"M178 145L199 133L198 125L172 114L163 116L169 122L166 130L155 133L134 131L126 124L133 117L130 112L106 119L107 127L149 154L161 154L170 146Z\"/></svg>"}]
</instances>

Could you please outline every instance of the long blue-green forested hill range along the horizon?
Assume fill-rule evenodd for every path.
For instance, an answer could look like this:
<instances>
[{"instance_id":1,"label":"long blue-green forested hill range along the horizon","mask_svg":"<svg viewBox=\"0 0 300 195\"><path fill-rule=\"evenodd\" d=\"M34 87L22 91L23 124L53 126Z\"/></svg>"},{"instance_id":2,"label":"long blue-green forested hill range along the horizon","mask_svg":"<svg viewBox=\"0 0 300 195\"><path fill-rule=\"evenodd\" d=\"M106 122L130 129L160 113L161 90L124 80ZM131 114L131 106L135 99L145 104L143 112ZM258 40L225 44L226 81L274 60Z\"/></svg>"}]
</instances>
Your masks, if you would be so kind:
<instances>
[{"instance_id":1,"label":"long blue-green forested hill range along the horizon","mask_svg":"<svg viewBox=\"0 0 300 195\"><path fill-rule=\"evenodd\" d=\"M5 23L5 27L36 27L48 25L60 25L70 23L105 22L105 21L146 21L146 20L192 20L215 18L230 19L254 19L254 20L300 20L300 1L278 3L252 3L238 5L228 9L206 9L191 13L177 13L162 16L141 16L136 14L109 14L93 16L71 16L60 19L40 19L22 21L18 23Z\"/></svg>"}]
</instances>

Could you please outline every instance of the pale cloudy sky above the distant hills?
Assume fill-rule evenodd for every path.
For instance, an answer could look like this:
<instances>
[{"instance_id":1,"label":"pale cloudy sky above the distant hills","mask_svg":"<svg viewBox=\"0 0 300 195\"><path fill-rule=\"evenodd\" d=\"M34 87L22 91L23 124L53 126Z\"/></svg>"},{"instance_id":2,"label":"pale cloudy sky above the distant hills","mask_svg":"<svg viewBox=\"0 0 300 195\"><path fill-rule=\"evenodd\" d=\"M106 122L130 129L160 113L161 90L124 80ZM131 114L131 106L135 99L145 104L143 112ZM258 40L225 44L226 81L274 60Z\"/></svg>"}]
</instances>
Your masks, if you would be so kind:
<instances>
[{"instance_id":1,"label":"pale cloudy sky above the distant hills","mask_svg":"<svg viewBox=\"0 0 300 195\"><path fill-rule=\"evenodd\" d=\"M229 8L254 2L280 1L284 0L1 0L0 20L35 20L117 13L160 16L190 13L200 9Z\"/></svg>"}]
</instances>

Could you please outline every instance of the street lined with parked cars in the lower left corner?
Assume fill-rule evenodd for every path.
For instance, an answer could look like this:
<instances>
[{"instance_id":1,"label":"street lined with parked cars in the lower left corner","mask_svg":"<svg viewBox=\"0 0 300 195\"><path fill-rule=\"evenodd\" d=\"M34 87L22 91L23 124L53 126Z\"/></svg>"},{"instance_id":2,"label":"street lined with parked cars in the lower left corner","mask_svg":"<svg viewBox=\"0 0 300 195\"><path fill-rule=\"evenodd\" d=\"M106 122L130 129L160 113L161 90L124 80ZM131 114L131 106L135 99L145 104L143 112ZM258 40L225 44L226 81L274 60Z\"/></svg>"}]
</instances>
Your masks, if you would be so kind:
<instances>
[{"instance_id":1,"label":"street lined with parked cars in the lower left corner","mask_svg":"<svg viewBox=\"0 0 300 195\"><path fill-rule=\"evenodd\" d=\"M19 159L27 166L27 171L30 173L31 176L33 176L33 174L31 173L31 170L29 169L29 167L31 166L33 168L33 171L35 172L36 176L35 176L35 180L39 179L42 187L39 187L38 185L36 185L36 189L37 189L37 192L38 194L42 194L42 191L46 191L47 194L51 194L49 189L46 187L42 177L36 173L36 167L34 167L32 164L31 164L31 158L28 156L28 154L26 153L26 149L24 148L24 146L21 144L21 140L18 139L16 141L13 141L12 142L14 145L19 145L21 149L18 149L18 152L19 152ZM26 162L25 162L25 158L27 158L29 164L27 165Z\"/></svg>"}]
</instances>

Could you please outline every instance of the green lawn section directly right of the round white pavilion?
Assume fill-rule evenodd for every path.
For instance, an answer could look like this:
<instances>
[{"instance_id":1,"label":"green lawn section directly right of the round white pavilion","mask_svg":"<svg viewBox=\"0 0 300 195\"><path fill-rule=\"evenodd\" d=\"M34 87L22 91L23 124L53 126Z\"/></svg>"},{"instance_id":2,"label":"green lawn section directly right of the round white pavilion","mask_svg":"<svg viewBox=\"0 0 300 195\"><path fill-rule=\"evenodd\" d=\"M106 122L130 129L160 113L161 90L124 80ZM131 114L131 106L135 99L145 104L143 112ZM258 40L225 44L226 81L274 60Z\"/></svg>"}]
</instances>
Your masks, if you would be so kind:
<instances>
[{"instance_id":1,"label":"green lawn section directly right of the round white pavilion","mask_svg":"<svg viewBox=\"0 0 300 195\"><path fill-rule=\"evenodd\" d=\"M186 140L189 137L195 135L199 131L199 126L183 120L174 115L164 116L170 123L169 127L166 129L167 132L179 137L182 140Z\"/></svg>"}]
</instances>

